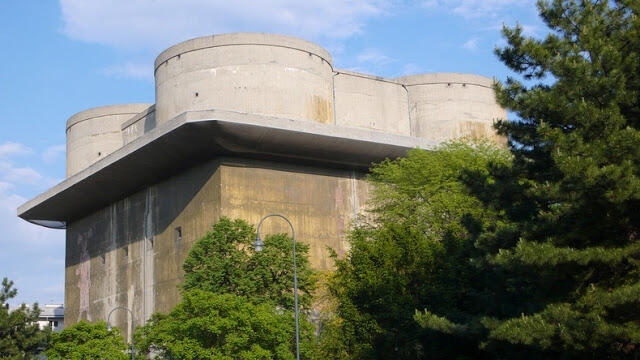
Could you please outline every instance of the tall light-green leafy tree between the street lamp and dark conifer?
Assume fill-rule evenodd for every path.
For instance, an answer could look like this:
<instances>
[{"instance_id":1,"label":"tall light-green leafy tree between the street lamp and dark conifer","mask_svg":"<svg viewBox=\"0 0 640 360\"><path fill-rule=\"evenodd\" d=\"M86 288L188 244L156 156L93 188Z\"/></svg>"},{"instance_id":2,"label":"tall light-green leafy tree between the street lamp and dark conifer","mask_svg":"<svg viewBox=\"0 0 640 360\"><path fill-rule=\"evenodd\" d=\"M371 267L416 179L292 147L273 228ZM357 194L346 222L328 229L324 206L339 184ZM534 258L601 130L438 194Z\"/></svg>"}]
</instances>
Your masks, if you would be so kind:
<instances>
[{"instance_id":1,"label":"tall light-green leafy tree between the street lamp and dark conifer","mask_svg":"<svg viewBox=\"0 0 640 360\"><path fill-rule=\"evenodd\" d=\"M483 277L469 262L473 234L498 215L470 193L466 176L509 161L506 150L488 143L453 142L371 169L373 220L355 227L351 251L336 260L329 286L336 317L321 335L326 357L475 357L473 342L422 331L414 313L429 308L460 320L464 309L479 306L470 296Z\"/></svg>"}]
</instances>

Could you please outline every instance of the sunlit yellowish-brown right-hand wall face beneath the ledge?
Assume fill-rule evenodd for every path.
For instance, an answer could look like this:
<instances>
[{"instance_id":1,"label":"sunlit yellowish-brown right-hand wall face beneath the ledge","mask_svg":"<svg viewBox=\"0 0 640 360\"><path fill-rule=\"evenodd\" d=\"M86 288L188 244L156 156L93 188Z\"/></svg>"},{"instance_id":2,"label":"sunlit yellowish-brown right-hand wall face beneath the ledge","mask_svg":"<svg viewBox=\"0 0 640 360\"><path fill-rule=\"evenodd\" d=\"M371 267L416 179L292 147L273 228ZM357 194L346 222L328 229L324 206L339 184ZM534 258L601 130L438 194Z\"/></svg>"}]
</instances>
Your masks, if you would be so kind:
<instances>
[{"instance_id":1,"label":"sunlit yellowish-brown right-hand wall face beneath the ledge","mask_svg":"<svg viewBox=\"0 0 640 360\"><path fill-rule=\"evenodd\" d=\"M315 269L333 266L326 247L347 250L345 231L364 208L368 184L360 173L272 164L227 162L221 168L221 214L257 224L271 213L285 215L297 238L311 245ZM285 221L265 221L261 233L290 233Z\"/></svg>"}]
</instances>

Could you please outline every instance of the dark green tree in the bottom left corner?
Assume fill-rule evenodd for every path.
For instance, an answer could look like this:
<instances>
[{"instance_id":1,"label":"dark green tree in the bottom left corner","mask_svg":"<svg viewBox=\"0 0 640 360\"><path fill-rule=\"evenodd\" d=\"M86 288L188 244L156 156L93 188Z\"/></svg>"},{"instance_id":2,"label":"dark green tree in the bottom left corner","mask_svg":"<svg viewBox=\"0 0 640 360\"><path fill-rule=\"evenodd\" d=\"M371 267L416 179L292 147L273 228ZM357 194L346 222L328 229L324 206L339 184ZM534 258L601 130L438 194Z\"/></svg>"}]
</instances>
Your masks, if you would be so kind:
<instances>
[{"instance_id":1,"label":"dark green tree in the bottom left corner","mask_svg":"<svg viewBox=\"0 0 640 360\"><path fill-rule=\"evenodd\" d=\"M47 344L50 331L40 330L38 304L28 308L26 305L9 312L5 304L14 298L18 291L13 281L2 280L0 288L0 358L33 359Z\"/></svg>"}]
</instances>

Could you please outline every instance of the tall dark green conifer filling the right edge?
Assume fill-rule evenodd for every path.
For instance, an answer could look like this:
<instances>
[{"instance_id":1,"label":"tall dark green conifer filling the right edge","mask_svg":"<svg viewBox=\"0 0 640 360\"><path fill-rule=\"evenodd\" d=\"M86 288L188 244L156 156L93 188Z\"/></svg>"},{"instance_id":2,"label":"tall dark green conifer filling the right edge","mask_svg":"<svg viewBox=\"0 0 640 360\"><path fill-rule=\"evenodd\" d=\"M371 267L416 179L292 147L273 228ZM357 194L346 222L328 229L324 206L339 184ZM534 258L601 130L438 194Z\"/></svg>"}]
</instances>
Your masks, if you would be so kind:
<instances>
[{"instance_id":1,"label":"tall dark green conifer filling the right edge","mask_svg":"<svg viewBox=\"0 0 640 360\"><path fill-rule=\"evenodd\" d=\"M427 328L545 358L640 355L640 2L539 1L544 39L505 28L496 86L519 119L498 124L512 167L478 186L505 215L477 237L493 307L468 321L427 309ZM481 178L481 177L479 177ZM493 196L489 196L493 190Z\"/></svg>"}]
</instances>

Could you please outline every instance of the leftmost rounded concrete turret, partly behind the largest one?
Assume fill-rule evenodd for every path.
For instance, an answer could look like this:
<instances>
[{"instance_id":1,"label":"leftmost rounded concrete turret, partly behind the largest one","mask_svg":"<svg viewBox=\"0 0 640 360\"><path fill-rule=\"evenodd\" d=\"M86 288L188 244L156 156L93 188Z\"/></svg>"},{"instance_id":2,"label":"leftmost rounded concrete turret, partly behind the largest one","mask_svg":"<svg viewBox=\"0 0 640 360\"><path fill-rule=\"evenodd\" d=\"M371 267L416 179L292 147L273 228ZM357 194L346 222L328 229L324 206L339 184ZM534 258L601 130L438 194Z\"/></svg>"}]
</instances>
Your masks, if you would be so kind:
<instances>
[{"instance_id":1,"label":"leftmost rounded concrete turret, partly behind the largest one","mask_svg":"<svg viewBox=\"0 0 640 360\"><path fill-rule=\"evenodd\" d=\"M67 177L122 147L121 125L149 104L109 105L81 111L67 121Z\"/></svg>"}]
</instances>

